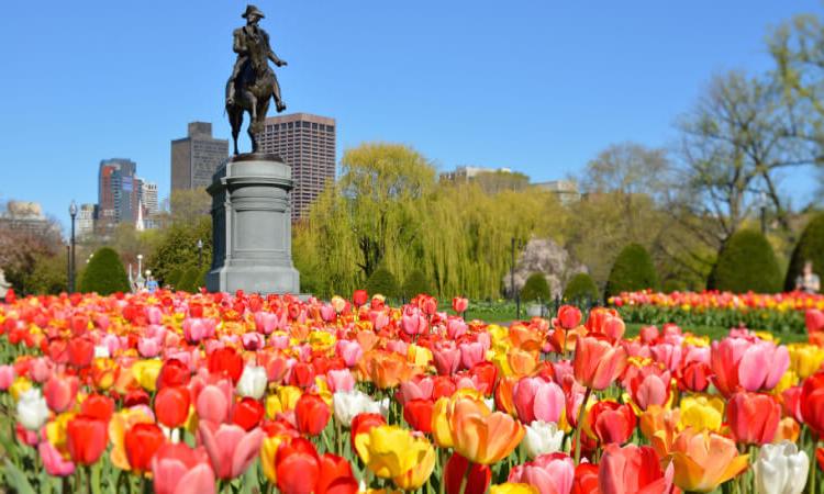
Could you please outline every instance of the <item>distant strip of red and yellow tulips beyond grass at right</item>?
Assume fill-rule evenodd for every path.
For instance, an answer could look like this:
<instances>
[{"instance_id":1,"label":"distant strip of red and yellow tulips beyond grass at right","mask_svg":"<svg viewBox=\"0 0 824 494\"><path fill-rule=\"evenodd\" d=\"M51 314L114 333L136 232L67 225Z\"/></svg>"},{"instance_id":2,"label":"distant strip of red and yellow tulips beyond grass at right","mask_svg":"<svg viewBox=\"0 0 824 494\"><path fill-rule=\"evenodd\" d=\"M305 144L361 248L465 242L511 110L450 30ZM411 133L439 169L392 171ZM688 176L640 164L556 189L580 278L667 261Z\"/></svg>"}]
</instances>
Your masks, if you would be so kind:
<instances>
[{"instance_id":1,"label":"distant strip of red and yellow tulips beyond grass at right","mask_svg":"<svg viewBox=\"0 0 824 494\"><path fill-rule=\"evenodd\" d=\"M622 293L609 303L627 323L745 326L773 333L803 333L805 312L824 310L824 295L642 291Z\"/></svg>"}]
</instances>

